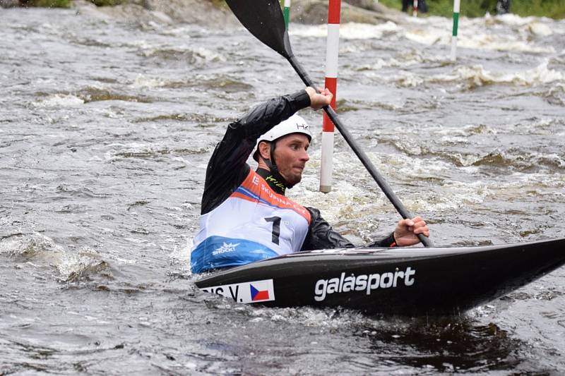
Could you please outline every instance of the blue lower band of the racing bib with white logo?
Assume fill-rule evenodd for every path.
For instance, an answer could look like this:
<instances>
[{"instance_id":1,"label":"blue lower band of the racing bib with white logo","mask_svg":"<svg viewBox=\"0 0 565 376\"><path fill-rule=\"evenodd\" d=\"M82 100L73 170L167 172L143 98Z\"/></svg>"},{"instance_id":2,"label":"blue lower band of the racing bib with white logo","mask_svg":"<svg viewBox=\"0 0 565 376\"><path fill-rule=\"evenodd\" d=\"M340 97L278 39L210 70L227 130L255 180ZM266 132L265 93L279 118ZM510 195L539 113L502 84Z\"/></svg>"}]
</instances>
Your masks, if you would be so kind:
<instances>
[{"instance_id":1,"label":"blue lower band of the racing bib with white logo","mask_svg":"<svg viewBox=\"0 0 565 376\"><path fill-rule=\"evenodd\" d=\"M274 250L261 243L209 236L192 250L190 268L193 273L202 273L222 267L246 265L275 256L278 254Z\"/></svg>"}]
</instances>

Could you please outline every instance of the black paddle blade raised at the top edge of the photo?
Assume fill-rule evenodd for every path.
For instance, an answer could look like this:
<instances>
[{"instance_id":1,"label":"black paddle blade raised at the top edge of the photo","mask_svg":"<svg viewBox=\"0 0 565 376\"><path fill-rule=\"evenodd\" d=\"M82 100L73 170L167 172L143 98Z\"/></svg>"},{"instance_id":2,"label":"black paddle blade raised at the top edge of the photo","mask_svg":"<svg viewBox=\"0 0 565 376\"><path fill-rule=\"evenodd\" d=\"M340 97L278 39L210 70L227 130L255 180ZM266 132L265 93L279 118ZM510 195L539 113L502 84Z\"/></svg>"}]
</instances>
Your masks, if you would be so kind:
<instances>
[{"instance_id":1,"label":"black paddle blade raised at the top edge of the photo","mask_svg":"<svg viewBox=\"0 0 565 376\"><path fill-rule=\"evenodd\" d=\"M251 34L285 58L292 56L285 18L278 0L226 0L228 6Z\"/></svg>"}]
</instances>

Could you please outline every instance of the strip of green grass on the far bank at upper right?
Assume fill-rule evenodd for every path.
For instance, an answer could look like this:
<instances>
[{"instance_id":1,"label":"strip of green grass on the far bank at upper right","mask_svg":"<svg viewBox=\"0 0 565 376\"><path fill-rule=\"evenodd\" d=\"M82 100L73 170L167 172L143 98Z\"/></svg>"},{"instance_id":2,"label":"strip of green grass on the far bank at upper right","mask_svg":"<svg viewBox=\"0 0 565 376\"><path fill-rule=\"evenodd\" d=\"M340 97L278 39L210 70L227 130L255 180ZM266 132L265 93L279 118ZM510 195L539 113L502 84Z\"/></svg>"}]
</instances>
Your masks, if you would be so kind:
<instances>
[{"instance_id":1,"label":"strip of green grass on the far bank at upper right","mask_svg":"<svg viewBox=\"0 0 565 376\"><path fill-rule=\"evenodd\" d=\"M401 0L379 2L389 8L402 8ZM424 14L445 17L451 17L453 14L453 0L426 0L426 3L429 12ZM511 0L510 11L522 17L565 18L565 0ZM461 0L461 16L482 17L487 12L496 14L496 0Z\"/></svg>"}]
</instances>

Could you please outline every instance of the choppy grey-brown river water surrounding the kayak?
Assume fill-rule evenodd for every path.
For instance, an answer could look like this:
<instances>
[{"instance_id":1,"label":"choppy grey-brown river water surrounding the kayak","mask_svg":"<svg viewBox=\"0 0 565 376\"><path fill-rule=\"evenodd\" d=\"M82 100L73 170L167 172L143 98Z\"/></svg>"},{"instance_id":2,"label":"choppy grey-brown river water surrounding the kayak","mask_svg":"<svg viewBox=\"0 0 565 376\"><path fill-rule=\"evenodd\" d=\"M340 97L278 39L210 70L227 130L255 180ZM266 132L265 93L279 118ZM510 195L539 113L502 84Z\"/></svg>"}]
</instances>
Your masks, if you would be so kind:
<instances>
[{"instance_id":1,"label":"choppy grey-brown river water surrounding the kayak","mask_svg":"<svg viewBox=\"0 0 565 376\"><path fill-rule=\"evenodd\" d=\"M323 83L326 27L291 24ZM302 87L243 28L0 9L0 374L565 372L565 269L468 313L267 309L198 291L189 250L227 123ZM338 111L436 245L564 236L565 21L341 27ZM321 124L321 113L302 114ZM398 214L342 138L290 196L359 245Z\"/></svg>"}]
</instances>

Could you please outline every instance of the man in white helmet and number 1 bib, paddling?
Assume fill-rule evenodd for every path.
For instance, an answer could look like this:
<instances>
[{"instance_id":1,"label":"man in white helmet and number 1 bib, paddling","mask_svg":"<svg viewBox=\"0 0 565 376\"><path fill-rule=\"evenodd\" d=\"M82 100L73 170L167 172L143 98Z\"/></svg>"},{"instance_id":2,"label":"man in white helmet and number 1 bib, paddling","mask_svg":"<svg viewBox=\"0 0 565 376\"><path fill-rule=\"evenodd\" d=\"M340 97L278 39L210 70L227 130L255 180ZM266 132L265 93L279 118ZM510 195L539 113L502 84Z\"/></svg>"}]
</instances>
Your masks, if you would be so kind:
<instances>
[{"instance_id":1,"label":"man in white helmet and number 1 bib, paddling","mask_svg":"<svg viewBox=\"0 0 565 376\"><path fill-rule=\"evenodd\" d=\"M191 251L193 273L245 265L300 250L355 247L314 207L285 197L302 178L311 141L300 109L321 109L333 95L312 87L270 99L230 123L206 169L200 231ZM246 163L254 152L256 171ZM414 245L429 236L420 217L403 219L366 247Z\"/></svg>"}]
</instances>

